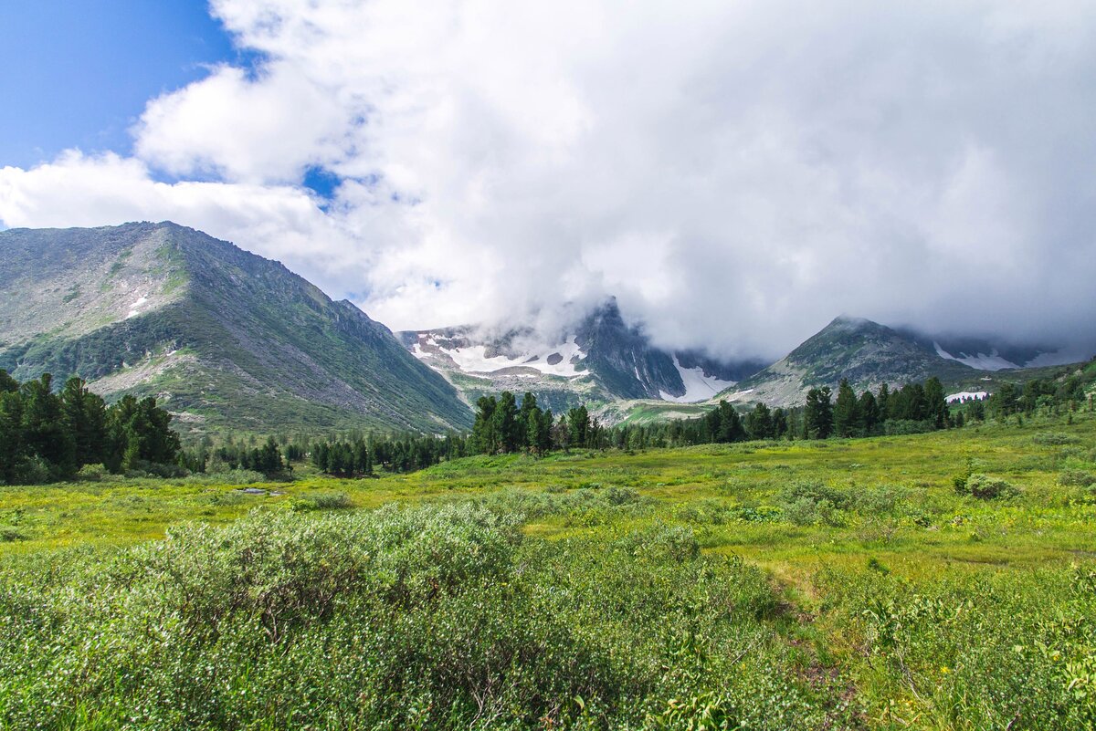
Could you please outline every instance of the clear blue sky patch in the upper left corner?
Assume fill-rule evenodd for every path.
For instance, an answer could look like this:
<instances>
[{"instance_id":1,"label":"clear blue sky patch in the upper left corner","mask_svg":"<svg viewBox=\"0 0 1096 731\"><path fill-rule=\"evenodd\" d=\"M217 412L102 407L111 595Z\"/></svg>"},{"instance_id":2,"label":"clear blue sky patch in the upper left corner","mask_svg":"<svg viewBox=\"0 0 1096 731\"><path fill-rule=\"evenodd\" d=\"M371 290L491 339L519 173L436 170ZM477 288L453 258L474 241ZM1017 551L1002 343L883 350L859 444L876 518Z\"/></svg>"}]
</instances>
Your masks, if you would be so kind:
<instances>
[{"instance_id":1,"label":"clear blue sky patch in the upper left corner","mask_svg":"<svg viewBox=\"0 0 1096 731\"><path fill-rule=\"evenodd\" d=\"M2 0L0 38L0 167L126 154L149 98L240 60L205 0Z\"/></svg>"}]
</instances>

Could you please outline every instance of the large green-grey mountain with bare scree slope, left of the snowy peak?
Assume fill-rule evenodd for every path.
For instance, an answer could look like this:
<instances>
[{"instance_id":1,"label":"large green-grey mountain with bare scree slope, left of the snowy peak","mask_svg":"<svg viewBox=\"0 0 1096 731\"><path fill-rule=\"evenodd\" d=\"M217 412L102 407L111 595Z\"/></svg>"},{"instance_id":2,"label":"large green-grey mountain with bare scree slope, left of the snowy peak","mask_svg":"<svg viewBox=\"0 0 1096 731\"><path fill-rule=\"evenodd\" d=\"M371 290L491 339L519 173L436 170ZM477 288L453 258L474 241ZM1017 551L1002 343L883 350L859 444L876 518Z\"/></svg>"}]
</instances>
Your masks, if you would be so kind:
<instances>
[{"instance_id":1,"label":"large green-grey mountain with bare scree slope, left of the snowy peak","mask_svg":"<svg viewBox=\"0 0 1096 731\"><path fill-rule=\"evenodd\" d=\"M470 423L388 328L277 262L174 223L0 232L0 368L156 395L183 428Z\"/></svg>"}]
</instances>

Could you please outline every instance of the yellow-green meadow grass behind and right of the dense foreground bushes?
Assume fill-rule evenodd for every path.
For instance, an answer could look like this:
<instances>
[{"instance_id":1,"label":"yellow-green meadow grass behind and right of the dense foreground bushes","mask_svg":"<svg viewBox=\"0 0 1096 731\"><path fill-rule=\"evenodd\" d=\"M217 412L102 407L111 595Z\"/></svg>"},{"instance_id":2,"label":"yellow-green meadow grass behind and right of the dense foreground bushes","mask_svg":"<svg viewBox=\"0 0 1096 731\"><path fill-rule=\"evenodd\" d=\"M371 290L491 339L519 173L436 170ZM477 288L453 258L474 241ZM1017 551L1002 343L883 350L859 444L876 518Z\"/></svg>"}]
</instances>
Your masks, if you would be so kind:
<instances>
[{"instance_id":1,"label":"yellow-green meadow grass behind and right of the dense foreground bushes","mask_svg":"<svg viewBox=\"0 0 1096 731\"><path fill-rule=\"evenodd\" d=\"M263 495L246 495L215 476L0 487L0 536L9 536L0 539L0 558L19 562L80 555L98 570L98 561L113 560L115 548L140 550L189 524L228 530L271 515L296 525L324 515L370 514L392 503L427 511L473 504L517 521L526 538L520 550L533 553L513 560L540 567L540 573L530 575L535 581L527 579L530 596L539 596L546 585L563 581L559 577L579 581L573 578L578 565L568 561L580 560L575 556L585 549L575 546L619 546L629 535L681 529L700 549L697 560L760 571L772 607L740 629L756 633L765 649L746 649L757 658L742 661L738 670L735 663L719 665L723 661L709 658L721 669L704 674L716 689L699 676L682 680L688 663L661 661L677 680L660 675L651 681L644 698L661 699L643 706L646 716L628 717L633 728L733 728L688 722L718 717L716 707L729 713L733 706L735 718L746 723L742 719L754 718L751 708L775 707L777 696L801 712L795 718L803 728L1083 728L1096 719L1096 491L1085 477L1096 474L1096 418L1087 414L1072 423L1044 417L1026 419L1023 427L986 425L849 441L573 452L544 460L478 456L362 480L309 472L298 469L292 483L249 486L266 490ZM972 473L1004 480L1015 495L979 499L957 491L956 478ZM615 568L598 573L591 557L603 550L608 549L581 559L594 560L582 564L582 576L597 575L600 582L613 584L614 571L640 571L632 577L637 587L646 581L643 571L662 576L658 561L663 559L636 558L640 569L614 564L609 555L617 548L604 554L604 566ZM674 560L688 565L692 559ZM551 576L557 579L545 578ZM490 591L499 581L489 582ZM553 591L576 592L575 597L609 591L567 581ZM0 577L0 589L2 582ZM637 587L613 589L614 601L643 591ZM697 617L716 612L705 604L711 595L705 596L689 600L707 607L697 608ZM601 627L595 635L639 641L628 635L627 623L604 624L609 619L584 614L585 605L574 601L580 603L568 610L579 613L568 614L572 630L589 623ZM673 616L677 619L659 622L675 627L684 622L685 615ZM711 618L717 616L697 619L716 623L706 630L711 637L731 631L719 628ZM571 637L567 647L597 646L580 640ZM732 655L743 651L737 648L727 650ZM777 675L791 685L779 685L776 696L763 692ZM684 685L674 685L678 681ZM676 699L659 696L671 693L671 686ZM616 696L605 688L597 693L603 694L598 703L607 704L598 711L600 723L623 722L627 713L612 710ZM797 700L788 700L787 693ZM551 722L579 726L579 717L568 712L551 711ZM745 728L767 728L761 720L750 723Z\"/></svg>"}]
</instances>

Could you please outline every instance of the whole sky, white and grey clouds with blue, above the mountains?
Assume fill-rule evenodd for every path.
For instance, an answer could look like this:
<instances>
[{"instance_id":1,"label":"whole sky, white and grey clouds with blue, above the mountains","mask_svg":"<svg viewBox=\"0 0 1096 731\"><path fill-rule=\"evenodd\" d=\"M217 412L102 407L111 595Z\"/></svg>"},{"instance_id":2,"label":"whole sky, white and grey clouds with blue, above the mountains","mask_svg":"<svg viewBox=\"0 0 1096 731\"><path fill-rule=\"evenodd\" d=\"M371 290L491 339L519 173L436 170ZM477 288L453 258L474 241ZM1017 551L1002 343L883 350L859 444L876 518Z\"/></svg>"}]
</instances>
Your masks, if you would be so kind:
<instances>
[{"instance_id":1,"label":"whole sky, white and grey clouds with blue, above the mountains","mask_svg":"<svg viewBox=\"0 0 1096 731\"><path fill-rule=\"evenodd\" d=\"M0 1L0 27L3 227L173 220L393 329L615 295L728 358L843 313L1096 346L1091 2Z\"/></svg>"}]
</instances>

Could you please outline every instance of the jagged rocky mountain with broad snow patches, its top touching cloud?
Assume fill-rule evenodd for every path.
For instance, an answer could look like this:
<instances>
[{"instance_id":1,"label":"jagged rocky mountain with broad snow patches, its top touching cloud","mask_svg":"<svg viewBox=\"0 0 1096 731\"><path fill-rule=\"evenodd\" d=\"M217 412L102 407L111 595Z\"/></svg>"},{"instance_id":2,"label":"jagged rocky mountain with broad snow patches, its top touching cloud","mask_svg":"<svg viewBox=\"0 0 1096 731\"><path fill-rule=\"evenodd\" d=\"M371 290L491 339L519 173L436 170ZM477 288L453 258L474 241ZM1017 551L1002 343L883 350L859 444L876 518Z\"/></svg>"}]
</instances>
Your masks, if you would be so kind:
<instances>
[{"instance_id":1,"label":"jagged rocky mountain with broad snow patches, its top touching cloud","mask_svg":"<svg viewBox=\"0 0 1096 731\"><path fill-rule=\"evenodd\" d=\"M763 366L657 348L640 327L625 323L614 299L561 333L460 326L398 335L469 403L503 390L532 391L555 410L621 399L704 402Z\"/></svg>"}]
</instances>

